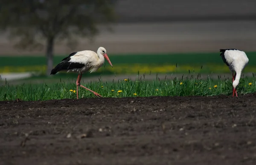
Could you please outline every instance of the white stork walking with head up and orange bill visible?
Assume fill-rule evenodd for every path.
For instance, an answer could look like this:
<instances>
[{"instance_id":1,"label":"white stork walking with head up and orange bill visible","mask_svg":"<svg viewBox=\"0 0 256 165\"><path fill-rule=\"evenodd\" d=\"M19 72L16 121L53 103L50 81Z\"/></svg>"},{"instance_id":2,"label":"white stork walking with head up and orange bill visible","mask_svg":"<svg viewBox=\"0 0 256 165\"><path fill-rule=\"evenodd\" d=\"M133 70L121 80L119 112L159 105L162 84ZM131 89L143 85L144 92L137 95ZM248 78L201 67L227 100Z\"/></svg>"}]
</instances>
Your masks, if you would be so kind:
<instances>
[{"instance_id":1,"label":"white stork walking with head up and orange bill visible","mask_svg":"<svg viewBox=\"0 0 256 165\"><path fill-rule=\"evenodd\" d=\"M68 57L64 58L55 68L52 69L51 75L55 75L59 71L76 72L79 73L76 81L76 98L78 99L78 86L83 87L94 95L102 97L98 93L82 86L80 84L82 74L90 70L90 73L96 72L105 62L105 59L111 64L107 51L103 47L99 47L97 53L91 50L84 50L71 53Z\"/></svg>"}]
</instances>

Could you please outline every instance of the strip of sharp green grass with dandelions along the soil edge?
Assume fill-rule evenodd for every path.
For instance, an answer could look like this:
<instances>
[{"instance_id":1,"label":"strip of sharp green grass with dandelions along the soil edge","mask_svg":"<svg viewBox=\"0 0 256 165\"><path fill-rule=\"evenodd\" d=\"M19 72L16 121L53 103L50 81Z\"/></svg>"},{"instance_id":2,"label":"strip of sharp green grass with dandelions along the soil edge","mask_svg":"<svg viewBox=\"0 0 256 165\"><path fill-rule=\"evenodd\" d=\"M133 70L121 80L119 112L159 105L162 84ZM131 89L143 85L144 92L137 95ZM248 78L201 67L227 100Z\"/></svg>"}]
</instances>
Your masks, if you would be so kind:
<instances>
[{"instance_id":1,"label":"strip of sharp green grass with dandelions along the soil edge","mask_svg":"<svg viewBox=\"0 0 256 165\"><path fill-rule=\"evenodd\" d=\"M83 84L83 83L81 83ZM83 84L103 97L149 97L149 96L213 96L232 95L232 81L229 79L213 81L200 78L200 73L196 76L186 78L174 78L172 80L160 80L156 76L154 81L146 81L145 75L138 76L135 81L129 78L117 82L99 81ZM6 83L0 87L0 101L11 101L20 99L23 101L45 101L52 99L71 98L76 99L76 85L74 83L60 82L55 85L18 85L11 86ZM241 78L237 88L238 95L256 92L256 82L249 81L248 78ZM79 87L79 98L93 98L91 92Z\"/></svg>"}]
</instances>

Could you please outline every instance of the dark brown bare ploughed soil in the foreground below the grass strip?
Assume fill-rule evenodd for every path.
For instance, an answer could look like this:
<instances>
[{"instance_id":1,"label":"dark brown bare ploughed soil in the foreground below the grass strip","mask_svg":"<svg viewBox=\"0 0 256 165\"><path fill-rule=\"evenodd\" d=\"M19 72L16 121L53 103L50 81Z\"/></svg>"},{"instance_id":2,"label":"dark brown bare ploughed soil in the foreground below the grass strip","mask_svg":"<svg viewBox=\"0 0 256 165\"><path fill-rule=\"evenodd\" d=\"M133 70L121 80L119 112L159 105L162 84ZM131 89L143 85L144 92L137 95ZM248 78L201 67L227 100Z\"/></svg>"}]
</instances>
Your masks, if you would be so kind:
<instances>
[{"instance_id":1,"label":"dark brown bare ploughed soil in the foreground below the grass strip","mask_svg":"<svg viewBox=\"0 0 256 165\"><path fill-rule=\"evenodd\" d=\"M256 163L256 94L0 102L1 165Z\"/></svg>"}]
</instances>

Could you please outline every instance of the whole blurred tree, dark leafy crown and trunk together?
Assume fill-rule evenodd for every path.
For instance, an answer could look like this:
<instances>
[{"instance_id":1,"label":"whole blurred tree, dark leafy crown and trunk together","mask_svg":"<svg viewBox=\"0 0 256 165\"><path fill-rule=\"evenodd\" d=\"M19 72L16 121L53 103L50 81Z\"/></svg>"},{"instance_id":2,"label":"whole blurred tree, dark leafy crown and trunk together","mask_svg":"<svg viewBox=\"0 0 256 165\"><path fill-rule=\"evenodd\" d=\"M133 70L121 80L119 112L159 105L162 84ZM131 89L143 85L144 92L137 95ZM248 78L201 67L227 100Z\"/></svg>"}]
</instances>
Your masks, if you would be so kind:
<instances>
[{"instance_id":1,"label":"whole blurred tree, dark leafy crown and trunk together","mask_svg":"<svg viewBox=\"0 0 256 165\"><path fill-rule=\"evenodd\" d=\"M53 68L53 48L56 39L68 39L73 46L77 36L98 34L97 24L106 26L116 18L117 0L0 0L0 30L12 29L17 46L33 50L45 39L47 76ZM15 12L14 12L15 11ZM71 47L70 47L71 48Z\"/></svg>"}]
</instances>

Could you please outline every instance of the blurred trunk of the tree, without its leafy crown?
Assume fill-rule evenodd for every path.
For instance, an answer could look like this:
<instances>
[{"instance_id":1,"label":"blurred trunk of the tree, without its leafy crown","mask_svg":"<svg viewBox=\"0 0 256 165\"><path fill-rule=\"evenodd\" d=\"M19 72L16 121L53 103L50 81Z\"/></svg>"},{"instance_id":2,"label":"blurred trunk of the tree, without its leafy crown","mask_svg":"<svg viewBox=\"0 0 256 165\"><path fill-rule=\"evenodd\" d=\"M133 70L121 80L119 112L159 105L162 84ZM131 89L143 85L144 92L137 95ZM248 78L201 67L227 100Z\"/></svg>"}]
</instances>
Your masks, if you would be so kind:
<instances>
[{"instance_id":1,"label":"blurred trunk of the tree, without its leafy crown","mask_svg":"<svg viewBox=\"0 0 256 165\"><path fill-rule=\"evenodd\" d=\"M46 74L49 76L51 74L53 68L53 46L54 46L54 38L49 37L47 39L47 50L46 50L46 59L47 59L47 71Z\"/></svg>"}]
</instances>

